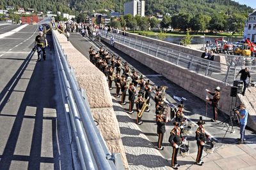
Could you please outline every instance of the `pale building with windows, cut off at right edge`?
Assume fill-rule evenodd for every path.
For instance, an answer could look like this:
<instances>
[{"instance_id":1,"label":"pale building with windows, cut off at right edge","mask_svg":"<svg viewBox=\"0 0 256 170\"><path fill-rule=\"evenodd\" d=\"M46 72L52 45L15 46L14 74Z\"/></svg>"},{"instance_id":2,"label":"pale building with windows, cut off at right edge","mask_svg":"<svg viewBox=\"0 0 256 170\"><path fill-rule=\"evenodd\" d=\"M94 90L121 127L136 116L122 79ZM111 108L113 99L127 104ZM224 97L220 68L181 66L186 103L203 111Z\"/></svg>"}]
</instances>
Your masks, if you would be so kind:
<instances>
[{"instance_id":1,"label":"pale building with windows, cut off at right edge","mask_svg":"<svg viewBox=\"0 0 256 170\"><path fill-rule=\"evenodd\" d=\"M244 39L250 38L250 41L256 42L256 10L248 16L244 26Z\"/></svg>"}]
</instances>

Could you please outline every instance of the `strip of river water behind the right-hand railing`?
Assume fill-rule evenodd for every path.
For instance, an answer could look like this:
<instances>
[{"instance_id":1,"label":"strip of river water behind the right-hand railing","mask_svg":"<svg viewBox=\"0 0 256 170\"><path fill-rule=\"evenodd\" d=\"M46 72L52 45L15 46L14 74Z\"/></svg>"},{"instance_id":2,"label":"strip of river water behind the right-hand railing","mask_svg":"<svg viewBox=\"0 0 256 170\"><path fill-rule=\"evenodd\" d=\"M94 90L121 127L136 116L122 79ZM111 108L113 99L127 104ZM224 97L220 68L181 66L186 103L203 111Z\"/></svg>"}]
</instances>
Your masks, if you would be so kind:
<instances>
[{"instance_id":1,"label":"strip of river water behind the right-hand railing","mask_svg":"<svg viewBox=\"0 0 256 170\"><path fill-rule=\"evenodd\" d=\"M148 37L157 39L157 36L148 36ZM179 44L182 38L184 38L184 36L167 36L167 38L164 41ZM211 41L214 44L215 39L216 39L216 37L205 36L205 39L204 39L200 36L195 36L191 39L191 44L193 44L193 45L203 44L203 43L206 43L206 41ZM239 40L243 40L243 38L230 38L230 39L224 38L224 39L229 42L237 42Z\"/></svg>"}]
</instances>

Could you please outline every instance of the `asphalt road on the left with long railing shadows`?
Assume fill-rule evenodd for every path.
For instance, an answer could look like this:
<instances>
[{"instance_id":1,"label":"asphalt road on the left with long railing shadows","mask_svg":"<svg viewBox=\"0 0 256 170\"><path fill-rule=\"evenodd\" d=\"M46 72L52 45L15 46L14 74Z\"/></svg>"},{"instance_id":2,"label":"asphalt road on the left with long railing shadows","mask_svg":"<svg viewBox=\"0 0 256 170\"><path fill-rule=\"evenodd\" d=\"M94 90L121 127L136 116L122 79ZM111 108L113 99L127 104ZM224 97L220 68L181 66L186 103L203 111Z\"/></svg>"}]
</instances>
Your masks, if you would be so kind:
<instances>
[{"instance_id":1,"label":"asphalt road on the left with long railing shadows","mask_svg":"<svg viewBox=\"0 0 256 170\"><path fill-rule=\"evenodd\" d=\"M72 169L51 34L47 59L37 62L37 32L28 25L0 38L0 169Z\"/></svg>"}]
</instances>

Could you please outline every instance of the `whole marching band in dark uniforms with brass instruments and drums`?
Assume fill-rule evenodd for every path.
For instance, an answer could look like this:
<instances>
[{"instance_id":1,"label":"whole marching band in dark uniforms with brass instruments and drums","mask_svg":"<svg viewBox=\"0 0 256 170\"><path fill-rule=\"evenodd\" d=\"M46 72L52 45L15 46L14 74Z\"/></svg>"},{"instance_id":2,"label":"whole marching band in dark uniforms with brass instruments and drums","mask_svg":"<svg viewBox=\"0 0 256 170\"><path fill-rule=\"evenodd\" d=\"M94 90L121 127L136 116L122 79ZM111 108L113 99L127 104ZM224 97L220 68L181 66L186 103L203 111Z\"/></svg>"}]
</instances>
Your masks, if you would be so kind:
<instances>
[{"instance_id":1,"label":"whole marching band in dark uniforms with brass instruments and drums","mask_svg":"<svg viewBox=\"0 0 256 170\"><path fill-rule=\"evenodd\" d=\"M186 136L191 131L191 125L188 125L188 121L184 118L184 104L181 103L179 106L168 103L165 97L165 91L168 89L166 86L156 86L150 83L150 80L145 80L143 75L139 75L137 71L127 64L122 62L120 57L111 55L107 50L100 46L99 51L95 51L91 46L89 49L90 61L105 74L108 79L109 90L113 89L115 85L115 97L120 97L120 104L128 104L128 114L134 113L134 105L136 107L137 119L136 124L143 124L143 113L150 111L150 98L151 93L155 92L155 110L156 110L156 124L157 124L157 150L163 150L163 136L166 132L166 123L172 121L174 127L170 132L169 142L172 145L172 167L178 169L180 166L177 164L177 153L180 152L182 157L185 157L189 153L189 142L186 144ZM128 90L128 101L127 101L127 90ZM153 106L151 106L153 107ZM204 121L202 117L198 121L198 129L195 132L195 139L198 145L198 155L196 157L196 164L202 166L202 152L209 138L211 136L205 134ZM212 142L211 142L212 144ZM210 149L212 149L214 145Z\"/></svg>"}]
</instances>

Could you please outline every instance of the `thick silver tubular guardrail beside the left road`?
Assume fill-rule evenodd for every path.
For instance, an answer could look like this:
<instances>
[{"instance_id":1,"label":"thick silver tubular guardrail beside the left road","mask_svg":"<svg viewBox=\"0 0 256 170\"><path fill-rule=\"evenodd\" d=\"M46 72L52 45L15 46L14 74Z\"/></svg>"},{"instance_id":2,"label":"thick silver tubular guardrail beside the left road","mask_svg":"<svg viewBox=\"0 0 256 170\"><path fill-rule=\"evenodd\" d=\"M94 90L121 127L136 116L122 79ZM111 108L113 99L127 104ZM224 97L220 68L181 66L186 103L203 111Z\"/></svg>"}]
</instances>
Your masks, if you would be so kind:
<instances>
[{"instance_id":1,"label":"thick silver tubular guardrail beside the left road","mask_svg":"<svg viewBox=\"0 0 256 170\"><path fill-rule=\"evenodd\" d=\"M124 169L120 153L108 152L90 112L86 95L81 90L63 50L52 32L60 82L66 96L70 121L76 136L79 160L83 169Z\"/></svg>"}]
</instances>

